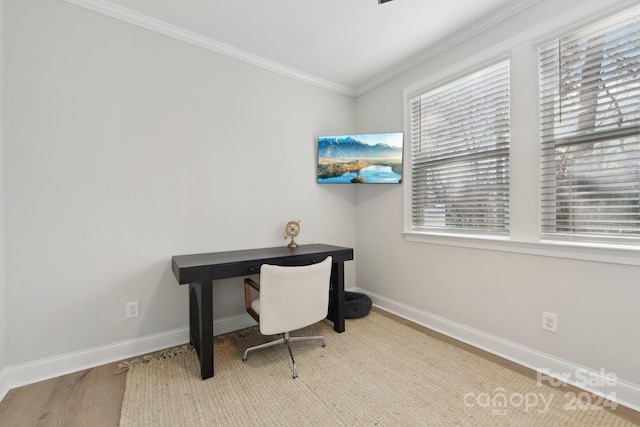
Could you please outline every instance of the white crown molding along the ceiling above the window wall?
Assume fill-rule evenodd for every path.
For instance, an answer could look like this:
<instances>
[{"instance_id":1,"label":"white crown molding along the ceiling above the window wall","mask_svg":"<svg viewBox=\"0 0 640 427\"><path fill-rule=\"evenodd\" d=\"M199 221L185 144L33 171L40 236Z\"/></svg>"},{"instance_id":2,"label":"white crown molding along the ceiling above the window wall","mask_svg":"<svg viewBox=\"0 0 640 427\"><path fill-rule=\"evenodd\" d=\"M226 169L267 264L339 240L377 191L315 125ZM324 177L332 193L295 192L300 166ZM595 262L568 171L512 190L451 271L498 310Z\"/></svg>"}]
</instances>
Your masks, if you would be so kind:
<instances>
[{"instance_id":1,"label":"white crown molding along the ceiling above the window wall","mask_svg":"<svg viewBox=\"0 0 640 427\"><path fill-rule=\"evenodd\" d=\"M427 62L428 60L435 58L436 56L451 50L452 48L471 40L477 35L490 30L496 25L516 16L517 14L524 12L525 10L535 6L542 0L521 0L514 4L494 12L490 17L478 21L475 25L470 26L465 31L454 34L452 37L447 37L446 41L437 43L423 50L421 53L411 57L410 59L399 63L392 67L387 72L369 80L363 85L359 86L355 90L355 96L358 97L378 86L394 79L395 77L406 73L407 71L417 67L418 65Z\"/></svg>"}]
</instances>

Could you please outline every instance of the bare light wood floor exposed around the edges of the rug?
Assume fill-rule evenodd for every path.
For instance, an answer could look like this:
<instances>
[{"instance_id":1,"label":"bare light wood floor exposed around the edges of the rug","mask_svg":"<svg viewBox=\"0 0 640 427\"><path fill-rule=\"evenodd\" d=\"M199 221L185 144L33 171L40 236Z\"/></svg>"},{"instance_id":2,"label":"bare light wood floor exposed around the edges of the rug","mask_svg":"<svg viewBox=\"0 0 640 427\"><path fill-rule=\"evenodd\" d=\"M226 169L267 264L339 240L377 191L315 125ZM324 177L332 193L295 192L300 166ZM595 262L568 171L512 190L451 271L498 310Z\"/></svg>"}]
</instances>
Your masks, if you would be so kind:
<instances>
[{"instance_id":1,"label":"bare light wood floor exposed around the edges of the rug","mask_svg":"<svg viewBox=\"0 0 640 427\"><path fill-rule=\"evenodd\" d=\"M385 311L376 308L374 310L434 338L456 345L528 377L536 378L535 371L531 369ZM10 390L0 402L0 427L117 427L120 422L126 382L126 374L116 375L118 371L118 362L115 362ZM576 393L581 391L571 386L563 389ZM621 405L618 405L613 412L640 426L639 412Z\"/></svg>"}]
</instances>

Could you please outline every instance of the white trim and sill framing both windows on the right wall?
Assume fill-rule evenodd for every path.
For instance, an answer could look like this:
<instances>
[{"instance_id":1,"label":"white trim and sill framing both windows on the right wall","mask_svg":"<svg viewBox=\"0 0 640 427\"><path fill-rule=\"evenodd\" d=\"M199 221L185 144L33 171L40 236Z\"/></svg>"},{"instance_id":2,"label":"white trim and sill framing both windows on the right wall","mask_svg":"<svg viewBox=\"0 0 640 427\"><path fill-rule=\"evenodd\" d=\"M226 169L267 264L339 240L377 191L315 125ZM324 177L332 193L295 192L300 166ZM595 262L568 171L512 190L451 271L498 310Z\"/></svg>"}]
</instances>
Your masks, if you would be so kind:
<instances>
[{"instance_id":1,"label":"white trim and sill framing both windows on the right wall","mask_svg":"<svg viewBox=\"0 0 640 427\"><path fill-rule=\"evenodd\" d=\"M637 2L624 2L616 8L592 4L589 7L559 15L523 33L502 37L487 44L472 55L457 59L432 58L426 76L401 83L402 123L405 135L409 135L410 112L408 100L459 77L482 69L491 63L511 58L511 235L481 236L442 234L411 229L410 177L403 179L403 225L400 237L413 244L449 246L470 250L498 251L509 254L534 255L579 261L602 262L627 266L640 266L640 244L616 244L607 242L557 241L542 237L539 227L539 108L538 108L538 46L577 31L595 22L622 13ZM514 73L529 73L526 80L514 78ZM405 159L409 159L409 147L405 144ZM526 215L523 215L523 212Z\"/></svg>"}]
</instances>

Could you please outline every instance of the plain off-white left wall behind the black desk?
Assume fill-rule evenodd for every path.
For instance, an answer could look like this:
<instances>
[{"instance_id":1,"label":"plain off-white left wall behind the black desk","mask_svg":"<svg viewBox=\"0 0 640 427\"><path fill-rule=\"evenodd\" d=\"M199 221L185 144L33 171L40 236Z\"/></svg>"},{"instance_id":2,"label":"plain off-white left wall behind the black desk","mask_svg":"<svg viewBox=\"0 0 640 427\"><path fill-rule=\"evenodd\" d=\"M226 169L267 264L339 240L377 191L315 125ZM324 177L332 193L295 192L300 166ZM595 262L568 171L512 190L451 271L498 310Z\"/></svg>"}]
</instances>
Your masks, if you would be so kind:
<instances>
[{"instance_id":1,"label":"plain off-white left wall behind the black desk","mask_svg":"<svg viewBox=\"0 0 640 427\"><path fill-rule=\"evenodd\" d=\"M353 99L71 4L5 9L14 386L56 359L78 369L141 337L186 341L172 255L285 245L297 219L300 244L355 244L354 189L315 183L316 138L355 129ZM240 281L215 288L216 324L244 313ZM141 316L125 320L133 300Z\"/></svg>"}]
</instances>

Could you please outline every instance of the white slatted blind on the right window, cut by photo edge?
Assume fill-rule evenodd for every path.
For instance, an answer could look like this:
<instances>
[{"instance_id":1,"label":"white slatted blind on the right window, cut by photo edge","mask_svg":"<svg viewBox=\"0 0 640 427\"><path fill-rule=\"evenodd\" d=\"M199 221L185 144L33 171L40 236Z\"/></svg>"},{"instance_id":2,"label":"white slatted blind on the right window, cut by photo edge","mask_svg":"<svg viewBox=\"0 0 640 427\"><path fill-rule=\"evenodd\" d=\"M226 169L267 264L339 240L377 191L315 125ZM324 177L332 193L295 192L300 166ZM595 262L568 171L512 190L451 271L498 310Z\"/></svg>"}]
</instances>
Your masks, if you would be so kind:
<instances>
[{"instance_id":1,"label":"white slatted blind on the right window, cut by photo edge","mask_svg":"<svg viewBox=\"0 0 640 427\"><path fill-rule=\"evenodd\" d=\"M640 237L638 9L539 48L541 231Z\"/></svg>"}]
</instances>

